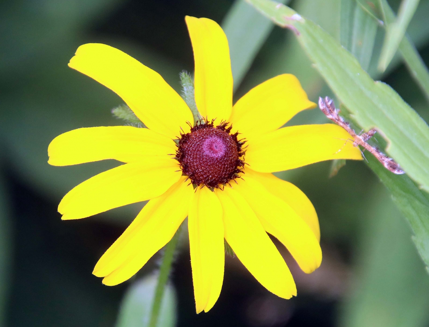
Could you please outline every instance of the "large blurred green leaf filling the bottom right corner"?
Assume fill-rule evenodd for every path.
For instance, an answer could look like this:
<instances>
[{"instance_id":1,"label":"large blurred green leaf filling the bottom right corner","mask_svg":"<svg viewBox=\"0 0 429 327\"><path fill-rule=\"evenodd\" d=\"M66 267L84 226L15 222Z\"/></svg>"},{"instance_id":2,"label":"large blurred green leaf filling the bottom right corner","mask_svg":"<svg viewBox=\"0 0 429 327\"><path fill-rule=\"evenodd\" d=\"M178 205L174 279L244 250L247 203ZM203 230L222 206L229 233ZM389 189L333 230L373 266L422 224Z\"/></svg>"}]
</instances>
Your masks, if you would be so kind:
<instances>
[{"instance_id":1,"label":"large blurred green leaf filling the bottom right corner","mask_svg":"<svg viewBox=\"0 0 429 327\"><path fill-rule=\"evenodd\" d=\"M353 286L339 326L426 326L429 278L409 228L387 192L369 192L372 202L362 219L365 232L353 255Z\"/></svg>"}]
</instances>

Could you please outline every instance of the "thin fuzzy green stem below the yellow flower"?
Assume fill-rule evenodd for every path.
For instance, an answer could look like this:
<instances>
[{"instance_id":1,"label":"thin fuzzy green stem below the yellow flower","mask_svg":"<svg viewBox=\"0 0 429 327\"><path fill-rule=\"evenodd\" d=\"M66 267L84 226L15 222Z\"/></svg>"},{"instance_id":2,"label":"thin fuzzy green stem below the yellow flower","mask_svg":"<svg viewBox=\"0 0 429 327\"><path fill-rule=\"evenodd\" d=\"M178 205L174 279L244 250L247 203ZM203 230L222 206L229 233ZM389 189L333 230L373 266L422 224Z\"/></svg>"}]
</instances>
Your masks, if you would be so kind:
<instances>
[{"instance_id":1,"label":"thin fuzzy green stem below the yellow flower","mask_svg":"<svg viewBox=\"0 0 429 327\"><path fill-rule=\"evenodd\" d=\"M175 233L171 241L166 244L164 249L164 256L160 267L160 273L158 275L158 283L157 287L155 288L154 302L152 303L151 320L149 321L149 327L156 327L157 325L158 316L161 309L161 303L164 295L164 289L170 274L171 264L173 261L174 251L176 249L179 234L180 228Z\"/></svg>"}]
</instances>

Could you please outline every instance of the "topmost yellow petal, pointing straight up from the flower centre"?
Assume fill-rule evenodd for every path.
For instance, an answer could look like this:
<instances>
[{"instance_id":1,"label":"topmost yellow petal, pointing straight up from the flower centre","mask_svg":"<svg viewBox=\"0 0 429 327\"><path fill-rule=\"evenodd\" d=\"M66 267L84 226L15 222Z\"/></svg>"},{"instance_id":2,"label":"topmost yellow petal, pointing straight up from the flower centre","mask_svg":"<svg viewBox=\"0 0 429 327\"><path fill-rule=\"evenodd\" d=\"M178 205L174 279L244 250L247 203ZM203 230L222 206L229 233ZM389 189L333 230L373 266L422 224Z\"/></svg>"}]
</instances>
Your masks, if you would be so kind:
<instances>
[{"instance_id":1,"label":"topmost yellow petal, pointing straight up from the flower centre","mask_svg":"<svg viewBox=\"0 0 429 327\"><path fill-rule=\"evenodd\" d=\"M195 102L199 113L227 120L233 106L230 48L222 28L208 18L186 16L195 61Z\"/></svg>"}]
</instances>

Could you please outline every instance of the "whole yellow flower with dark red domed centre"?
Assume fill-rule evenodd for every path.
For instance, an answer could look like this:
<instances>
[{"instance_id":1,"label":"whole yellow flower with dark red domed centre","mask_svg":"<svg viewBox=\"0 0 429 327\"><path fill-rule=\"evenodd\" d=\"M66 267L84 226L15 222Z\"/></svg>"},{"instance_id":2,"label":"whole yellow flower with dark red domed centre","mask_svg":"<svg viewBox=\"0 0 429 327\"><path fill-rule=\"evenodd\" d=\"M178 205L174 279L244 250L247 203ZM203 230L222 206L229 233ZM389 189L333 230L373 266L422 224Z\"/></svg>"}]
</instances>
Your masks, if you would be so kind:
<instances>
[{"instance_id":1,"label":"whole yellow flower with dark red domed centre","mask_svg":"<svg viewBox=\"0 0 429 327\"><path fill-rule=\"evenodd\" d=\"M95 266L94 275L106 285L139 271L188 216L197 312L210 310L221 292L224 238L264 287L288 299L296 286L267 232L310 273L322 260L319 223L304 193L271 173L329 159L359 160L360 150L344 145L350 135L337 125L281 128L316 106L293 75L269 79L233 106L227 37L210 19L187 16L186 23L195 101L208 118L192 129L189 108L154 70L104 44L77 49L69 66L116 92L148 128L79 128L55 138L48 148L51 165L125 163L73 188L58 211L64 220L80 219L150 200ZM188 179L198 184L195 190Z\"/></svg>"}]
</instances>

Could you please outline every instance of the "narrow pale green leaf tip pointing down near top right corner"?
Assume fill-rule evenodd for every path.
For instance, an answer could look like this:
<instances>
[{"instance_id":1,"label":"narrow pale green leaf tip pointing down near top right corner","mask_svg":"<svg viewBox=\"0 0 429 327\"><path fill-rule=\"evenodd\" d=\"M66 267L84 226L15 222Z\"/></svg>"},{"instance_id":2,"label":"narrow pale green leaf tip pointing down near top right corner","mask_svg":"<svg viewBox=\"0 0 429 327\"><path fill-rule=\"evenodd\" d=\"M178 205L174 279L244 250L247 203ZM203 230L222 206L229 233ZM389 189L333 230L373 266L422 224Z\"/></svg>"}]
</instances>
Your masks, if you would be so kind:
<instances>
[{"instance_id":1,"label":"narrow pale green leaf tip pointing down near top right corner","mask_svg":"<svg viewBox=\"0 0 429 327\"><path fill-rule=\"evenodd\" d=\"M380 60L378 61L378 69L386 70L390 61L398 49L399 43L405 35L408 24L416 12L420 0L402 0L399 8L399 15L395 22L387 26L386 37L384 39L383 49L381 50Z\"/></svg>"}]
</instances>

